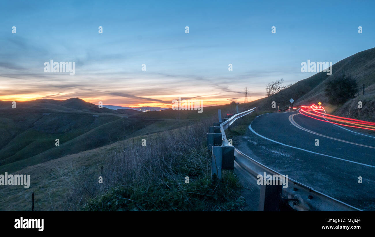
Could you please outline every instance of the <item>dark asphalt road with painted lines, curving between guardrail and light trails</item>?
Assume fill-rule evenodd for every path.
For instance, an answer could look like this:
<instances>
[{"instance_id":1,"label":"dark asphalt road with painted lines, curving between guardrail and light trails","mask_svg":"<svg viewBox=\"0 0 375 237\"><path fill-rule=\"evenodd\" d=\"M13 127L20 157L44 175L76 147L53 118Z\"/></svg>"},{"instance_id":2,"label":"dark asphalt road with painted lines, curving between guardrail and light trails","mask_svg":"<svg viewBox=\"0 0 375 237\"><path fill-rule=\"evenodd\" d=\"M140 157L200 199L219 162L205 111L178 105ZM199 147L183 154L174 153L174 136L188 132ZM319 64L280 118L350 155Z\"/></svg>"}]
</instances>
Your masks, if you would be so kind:
<instances>
[{"instance_id":1,"label":"dark asphalt road with painted lines, curving between guardrail and light trails","mask_svg":"<svg viewBox=\"0 0 375 237\"><path fill-rule=\"evenodd\" d=\"M293 112L260 115L235 142L289 178L362 210L375 210L375 136Z\"/></svg>"}]
</instances>

